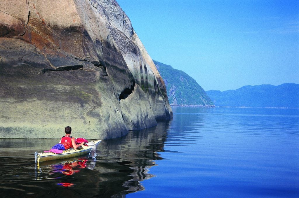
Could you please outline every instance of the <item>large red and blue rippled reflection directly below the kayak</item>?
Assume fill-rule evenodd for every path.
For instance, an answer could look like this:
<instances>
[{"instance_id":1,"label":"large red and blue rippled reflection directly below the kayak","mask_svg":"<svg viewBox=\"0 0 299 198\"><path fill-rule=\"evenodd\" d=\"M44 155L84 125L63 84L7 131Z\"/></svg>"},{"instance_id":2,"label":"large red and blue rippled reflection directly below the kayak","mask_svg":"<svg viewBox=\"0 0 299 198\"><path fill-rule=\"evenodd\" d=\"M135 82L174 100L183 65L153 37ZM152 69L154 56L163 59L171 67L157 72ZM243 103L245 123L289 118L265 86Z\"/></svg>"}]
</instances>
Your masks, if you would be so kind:
<instances>
[{"instance_id":1,"label":"large red and blue rippled reflection directly below the kayak","mask_svg":"<svg viewBox=\"0 0 299 198\"><path fill-rule=\"evenodd\" d=\"M82 168L88 168L93 170L95 166L95 160L88 159L75 159L70 162L65 162L62 164L51 165L53 173L62 173L65 175L72 175L74 173L80 172Z\"/></svg>"}]
</instances>

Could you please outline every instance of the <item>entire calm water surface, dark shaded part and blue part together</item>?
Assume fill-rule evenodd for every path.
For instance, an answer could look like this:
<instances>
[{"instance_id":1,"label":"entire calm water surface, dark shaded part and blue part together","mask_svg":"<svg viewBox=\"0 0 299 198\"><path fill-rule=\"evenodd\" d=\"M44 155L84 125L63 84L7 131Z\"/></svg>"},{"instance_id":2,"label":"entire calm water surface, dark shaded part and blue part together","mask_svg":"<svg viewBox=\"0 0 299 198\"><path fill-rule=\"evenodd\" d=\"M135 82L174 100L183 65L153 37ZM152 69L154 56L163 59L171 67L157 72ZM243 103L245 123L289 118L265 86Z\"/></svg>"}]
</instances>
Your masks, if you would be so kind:
<instances>
[{"instance_id":1,"label":"entire calm water surface, dark shaded part and blue part together","mask_svg":"<svg viewBox=\"0 0 299 198\"><path fill-rule=\"evenodd\" d=\"M299 109L173 113L102 141L94 160L36 166L57 139L0 139L0 197L299 197Z\"/></svg>"}]
</instances>

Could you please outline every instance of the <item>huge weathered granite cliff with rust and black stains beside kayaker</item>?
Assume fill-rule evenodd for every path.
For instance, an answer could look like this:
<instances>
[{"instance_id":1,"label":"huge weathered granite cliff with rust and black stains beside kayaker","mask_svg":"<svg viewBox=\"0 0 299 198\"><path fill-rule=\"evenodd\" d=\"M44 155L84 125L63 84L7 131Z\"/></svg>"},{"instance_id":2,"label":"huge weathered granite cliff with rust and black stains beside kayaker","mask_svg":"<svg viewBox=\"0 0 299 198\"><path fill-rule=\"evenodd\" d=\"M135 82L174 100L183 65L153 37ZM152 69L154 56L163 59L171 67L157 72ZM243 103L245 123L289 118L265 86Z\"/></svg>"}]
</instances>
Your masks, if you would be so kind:
<instances>
[{"instance_id":1,"label":"huge weathered granite cliff with rust and black stains beside kayaker","mask_svg":"<svg viewBox=\"0 0 299 198\"><path fill-rule=\"evenodd\" d=\"M0 138L108 139L172 118L114 0L0 1Z\"/></svg>"}]
</instances>

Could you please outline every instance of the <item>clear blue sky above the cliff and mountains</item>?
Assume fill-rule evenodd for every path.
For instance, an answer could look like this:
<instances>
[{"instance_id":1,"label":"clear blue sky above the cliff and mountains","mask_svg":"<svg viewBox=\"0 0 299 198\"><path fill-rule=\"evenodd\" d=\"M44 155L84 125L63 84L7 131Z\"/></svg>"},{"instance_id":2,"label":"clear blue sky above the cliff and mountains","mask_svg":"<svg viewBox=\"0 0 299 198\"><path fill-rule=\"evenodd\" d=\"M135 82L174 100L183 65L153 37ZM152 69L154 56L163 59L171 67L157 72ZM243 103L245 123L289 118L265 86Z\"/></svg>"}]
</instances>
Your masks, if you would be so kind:
<instances>
[{"instance_id":1,"label":"clear blue sky above the cliff and mountains","mask_svg":"<svg viewBox=\"0 0 299 198\"><path fill-rule=\"evenodd\" d=\"M299 84L299 0L117 0L152 59L204 90Z\"/></svg>"}]
</instances>

